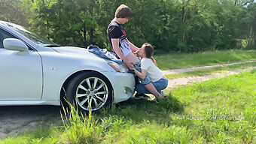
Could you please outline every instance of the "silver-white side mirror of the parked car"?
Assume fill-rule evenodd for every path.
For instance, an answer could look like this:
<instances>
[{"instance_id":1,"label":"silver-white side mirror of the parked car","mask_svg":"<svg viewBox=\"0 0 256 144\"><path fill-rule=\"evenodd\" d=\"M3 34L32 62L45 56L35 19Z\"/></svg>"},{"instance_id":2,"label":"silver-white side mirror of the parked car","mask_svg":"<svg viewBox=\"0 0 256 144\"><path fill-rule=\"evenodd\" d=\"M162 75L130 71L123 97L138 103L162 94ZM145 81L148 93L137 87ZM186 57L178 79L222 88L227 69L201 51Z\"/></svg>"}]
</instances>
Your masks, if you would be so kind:
<instances>
[{"instance_id":1,"label":"silver-white side mirror of the parked car","mask_svg":"<svg viewBox=\"0 0 256 144\"><path fill-rule=\"evenodd\" d=\"M17 38L6 38L3 41L5 49L8 50L15 50L20 51L20 53L27 53L29 52L28 46L26 46L25 43L23 43L21 40L18 40Z\"/></svg>"}]
</instances>

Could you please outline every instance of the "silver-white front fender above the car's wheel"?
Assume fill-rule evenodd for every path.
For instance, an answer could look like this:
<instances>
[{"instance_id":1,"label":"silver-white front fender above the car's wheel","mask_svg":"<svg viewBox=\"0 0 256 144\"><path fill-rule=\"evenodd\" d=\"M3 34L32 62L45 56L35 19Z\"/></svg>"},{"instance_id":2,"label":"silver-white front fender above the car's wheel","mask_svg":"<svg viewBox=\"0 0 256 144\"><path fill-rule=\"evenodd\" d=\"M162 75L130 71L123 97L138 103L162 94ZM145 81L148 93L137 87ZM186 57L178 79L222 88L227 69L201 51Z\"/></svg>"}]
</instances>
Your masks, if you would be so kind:
<instances>
[{"instance_id":1,"label":"silver-white front fender above the car's wheel","mask_svg":"<svg viewBox=\"0 0 256 144\"><path fill-rule=\"evenodd\" d=\"M107 77L105 72L115 72L108 65L108 60L102 58L87 62L86 58L74 57L61 53L41 52L43 64L43 95L41 100L56 100L62 85L73 74L80 71L96 71ZM57 59L57 60L56 60ZM112 83L111 83L112 85Z\"/></svg>"}]
</instances>

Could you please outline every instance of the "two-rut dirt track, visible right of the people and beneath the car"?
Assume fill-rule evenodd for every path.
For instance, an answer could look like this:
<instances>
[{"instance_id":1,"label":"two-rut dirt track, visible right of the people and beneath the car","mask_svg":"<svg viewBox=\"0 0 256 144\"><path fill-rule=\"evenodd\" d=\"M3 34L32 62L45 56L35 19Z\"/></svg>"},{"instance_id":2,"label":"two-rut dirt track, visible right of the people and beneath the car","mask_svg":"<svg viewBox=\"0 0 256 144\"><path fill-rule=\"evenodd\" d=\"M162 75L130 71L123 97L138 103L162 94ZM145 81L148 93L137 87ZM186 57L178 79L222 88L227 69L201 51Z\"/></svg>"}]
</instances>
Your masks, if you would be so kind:
<instances>
[{"instance_id":1,"label":"two-rut dirt track, visible right of the people and beneath the car","mask_svg":"<svg viewBox=\"0 0 256 144\"><path fill-rule=\"evenodd\" d=\"M256 61L250 61L256 62ZM227 65L242 64L245 62L236 62ZM226 65L214 65L199 68L185 68L178 70L163 71L164 74L184 73L203 68L223 67ZM230 74L239 74L242 70L224 71L221 74L212 74L202 77L181 77L169 80L169 87L185 85L188 83L197 83L212 78L225 77ZM23 133L32 130L35 127L50 126L51 124L61 123L60 118L61 107L53 106L26 106L26 107L1 107L0 108L0 138L10 135Z\"/></svg>"}]
</instances>

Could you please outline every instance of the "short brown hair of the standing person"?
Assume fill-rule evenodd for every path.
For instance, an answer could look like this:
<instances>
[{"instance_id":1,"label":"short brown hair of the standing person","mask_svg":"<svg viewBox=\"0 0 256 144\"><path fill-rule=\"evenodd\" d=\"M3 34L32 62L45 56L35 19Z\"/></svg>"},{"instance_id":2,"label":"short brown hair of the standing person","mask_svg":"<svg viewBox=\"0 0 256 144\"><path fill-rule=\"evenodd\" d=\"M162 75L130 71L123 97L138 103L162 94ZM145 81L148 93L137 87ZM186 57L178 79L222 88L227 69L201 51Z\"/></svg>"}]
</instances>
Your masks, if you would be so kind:
<instances>
[{"instance_id":1,"label":"short brown hair of the standing person","mask_svg":"<svg viewBox=\"0 0 256 144\"><path fill-rule=\"evenodd\" d=\"M117 10L115 10L115 17L116 18L131 18L132 17L132 10L130 7L126 5L120 5L117 7Z\"/></svg>"}]
</instances>

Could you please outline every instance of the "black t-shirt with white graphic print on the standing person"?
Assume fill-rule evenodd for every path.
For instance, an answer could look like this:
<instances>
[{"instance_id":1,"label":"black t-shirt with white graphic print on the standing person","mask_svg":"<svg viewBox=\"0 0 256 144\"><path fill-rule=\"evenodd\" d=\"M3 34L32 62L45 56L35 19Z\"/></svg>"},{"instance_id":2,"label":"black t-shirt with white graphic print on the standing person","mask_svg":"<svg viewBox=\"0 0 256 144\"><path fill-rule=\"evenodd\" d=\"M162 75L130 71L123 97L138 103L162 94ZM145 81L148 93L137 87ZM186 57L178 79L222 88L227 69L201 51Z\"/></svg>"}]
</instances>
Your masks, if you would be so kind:
<instances>
[{"instance_id":1,"label":"black t-shirt with white graphic print on the standing person","mask_svg":"<svg viewBox=\"0 0 256 144\"><path fill-rule=\"evenodd\" d=\"M119 38L119 46L120 49L123 52L123 55L126 55L128 52L130 52L130 43L128 42L128 39L126 37L126 32L123 30L123 27L120 26L119 23L117 23L115 20L112 20L111 23L108 26L108 40L111 44L111 49L114 52L111 38Z\"/></svg>"}]
</instances>

